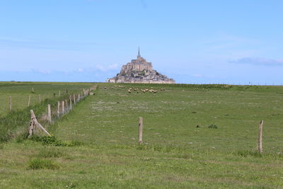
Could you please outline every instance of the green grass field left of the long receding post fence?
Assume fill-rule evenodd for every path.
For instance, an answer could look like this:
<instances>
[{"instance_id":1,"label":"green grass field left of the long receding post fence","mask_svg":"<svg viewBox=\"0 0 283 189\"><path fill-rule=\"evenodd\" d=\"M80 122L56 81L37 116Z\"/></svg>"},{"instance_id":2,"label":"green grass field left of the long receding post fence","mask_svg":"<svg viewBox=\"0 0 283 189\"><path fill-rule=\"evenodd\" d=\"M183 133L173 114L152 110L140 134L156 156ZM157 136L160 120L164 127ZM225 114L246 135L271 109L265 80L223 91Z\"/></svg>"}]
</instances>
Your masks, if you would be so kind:
<instances>
[{"instance_id":1,"label":"green grass field left of the long receding post fence","mask_svg":"<svg viewBox=\"0 0 283 189\"><path fill-rule=\"evenodd\" d=\"M91 83L0 82L0 142L17 137L27 130L30 109L40 118L47 114L47 104L56 115L57 101L81 93ZM60 95L59 95L60 94ZM9 110L11 96L12 110ZM30 106L28 106L30 96Z\"/></svg>"}]
</instances>

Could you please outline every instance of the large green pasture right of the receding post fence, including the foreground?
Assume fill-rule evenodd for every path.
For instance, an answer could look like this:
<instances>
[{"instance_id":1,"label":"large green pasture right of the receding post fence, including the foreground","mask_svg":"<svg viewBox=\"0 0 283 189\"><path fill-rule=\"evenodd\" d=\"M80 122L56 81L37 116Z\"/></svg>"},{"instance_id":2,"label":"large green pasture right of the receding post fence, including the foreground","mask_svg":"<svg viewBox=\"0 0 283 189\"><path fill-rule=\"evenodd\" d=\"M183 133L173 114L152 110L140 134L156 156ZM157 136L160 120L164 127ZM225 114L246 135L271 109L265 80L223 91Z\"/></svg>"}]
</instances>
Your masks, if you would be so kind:
<instances>
[{"instance_id":1,"label":"large green pasture right of the receding post fence, including the foreground","mask_svg":"<svg viewBox=\"0 0 283 189\"><path fill-rule=\"evenodd\" d=\"M47 128L53 140L0 144L0 188L283 188L282 98L280 86L98 84Z\"/></svg>"}]
</instances>

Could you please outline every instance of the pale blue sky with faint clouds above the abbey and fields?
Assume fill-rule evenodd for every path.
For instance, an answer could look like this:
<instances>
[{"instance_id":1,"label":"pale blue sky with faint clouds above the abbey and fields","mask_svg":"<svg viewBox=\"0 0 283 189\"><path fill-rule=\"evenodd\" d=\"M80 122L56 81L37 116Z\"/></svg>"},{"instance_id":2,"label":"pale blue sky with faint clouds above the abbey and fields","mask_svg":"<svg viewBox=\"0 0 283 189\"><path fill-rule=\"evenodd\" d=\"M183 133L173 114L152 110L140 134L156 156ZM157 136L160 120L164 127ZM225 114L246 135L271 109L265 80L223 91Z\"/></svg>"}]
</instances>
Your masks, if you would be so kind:
<instances>
[{"instance_id":1,"label":"pale blue sky with faint clouds above the abbey and fields","mask_svg":"<svg viewBox=\"0 0 283 189\"><path fill-rule=\"evenodd\" d=\"M283 1L0 1L0 81L105 81L138 47L176 83L282 85Z\"/></svg>"}]
</instances>

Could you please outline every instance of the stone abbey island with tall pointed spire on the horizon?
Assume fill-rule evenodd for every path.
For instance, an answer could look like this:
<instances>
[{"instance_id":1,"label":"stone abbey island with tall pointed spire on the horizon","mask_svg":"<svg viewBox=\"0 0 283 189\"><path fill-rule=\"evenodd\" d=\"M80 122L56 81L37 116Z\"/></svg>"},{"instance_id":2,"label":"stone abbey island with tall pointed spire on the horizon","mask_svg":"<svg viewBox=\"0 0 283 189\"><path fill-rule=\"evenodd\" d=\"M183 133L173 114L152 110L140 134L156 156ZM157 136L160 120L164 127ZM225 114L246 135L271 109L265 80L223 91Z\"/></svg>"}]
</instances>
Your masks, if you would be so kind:
<instances>
[{"instance_id":1,"label":"stone abbey island with tall pointed spire on the horizon","mask_svg":"<svg viewBox=\"0 0 283 189\"><path fill-rule=\"evenodd\" d=\"M142 83L142 84L175 84L174 79L158 73L151 62L141 57L138 52L137 59L122 66L117 76L107 80L110 83Z\"/></svg>"}]
</instances>

